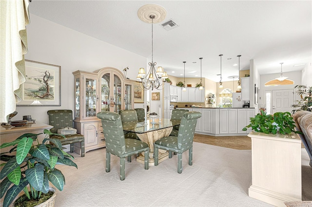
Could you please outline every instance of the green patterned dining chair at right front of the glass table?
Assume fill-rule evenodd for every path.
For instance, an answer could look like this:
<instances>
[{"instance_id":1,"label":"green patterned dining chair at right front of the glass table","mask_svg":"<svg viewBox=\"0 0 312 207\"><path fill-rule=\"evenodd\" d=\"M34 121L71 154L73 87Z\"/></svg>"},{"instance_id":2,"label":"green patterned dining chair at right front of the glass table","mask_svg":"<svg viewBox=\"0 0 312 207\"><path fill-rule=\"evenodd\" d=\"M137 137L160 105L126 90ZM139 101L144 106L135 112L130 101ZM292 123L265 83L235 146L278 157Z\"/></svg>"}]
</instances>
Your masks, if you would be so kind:
<instances>
[{"instance_id":1,"label":"green patterned dining chair at right front of the glass table","mask_svg":"<svg viewBox=\"0 0 312 207\"><path fill-rule=\"evenodd\" d=\"M158 165L158 149L169 151L169 158L172 152L177 153L177 172L182 173L182 153L189 150L189 165L193 164L193 139L197 119L201 117L201 113L190 111L184 113L178 136L169 136L157 140L154 143L155 166Z\"/></svg>"}]
</instances>

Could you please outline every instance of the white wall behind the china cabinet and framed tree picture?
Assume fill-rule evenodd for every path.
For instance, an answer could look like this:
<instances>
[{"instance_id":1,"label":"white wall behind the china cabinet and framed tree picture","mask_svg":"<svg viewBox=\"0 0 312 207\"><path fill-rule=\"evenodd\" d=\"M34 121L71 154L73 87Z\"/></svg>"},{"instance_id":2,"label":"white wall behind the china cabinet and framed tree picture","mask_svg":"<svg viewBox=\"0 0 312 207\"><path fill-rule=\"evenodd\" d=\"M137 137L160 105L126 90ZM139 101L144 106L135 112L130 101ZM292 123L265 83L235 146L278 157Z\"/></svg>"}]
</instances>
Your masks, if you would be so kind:
<instances>
[{"instance_id":1,"label":"white wall behind the china cabinet and framed tree picture","mask_svg":"<svg viewBox=\"0 0 312 207\"><path fill-rule=\"evenodd\" d=\"M35 15L30 15L27 36L28 53L25 59L61 66L61 106L17 106L18 115L14 120L32 115L33 119L48 123L48 110L74 110L73 71L93 72L104 67L122 71L128 67L127 77L135 80L138 69L147 64L143 56Z\"/></svg>"}]
</instances>

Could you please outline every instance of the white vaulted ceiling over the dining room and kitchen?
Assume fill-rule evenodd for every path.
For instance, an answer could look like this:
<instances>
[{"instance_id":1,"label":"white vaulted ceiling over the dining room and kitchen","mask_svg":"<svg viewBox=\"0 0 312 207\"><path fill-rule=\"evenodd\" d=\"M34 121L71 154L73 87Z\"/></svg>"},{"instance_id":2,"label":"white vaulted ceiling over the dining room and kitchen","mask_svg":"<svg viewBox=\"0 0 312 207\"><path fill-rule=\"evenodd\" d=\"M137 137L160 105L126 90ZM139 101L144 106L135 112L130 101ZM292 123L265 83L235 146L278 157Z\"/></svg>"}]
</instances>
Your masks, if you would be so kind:
<instances>
[{"instance_id":1,"label":"white vaulted ceiling over the dining room and kitchen","mask_svg":"<svg viewBox=\"0 0 312 207\"><path fill-rule=\"evenodd\" d=\"M154 24L154 62L169 75L181 77L186 61L185 77L199 77L199 57L203 57L202 77L218 82L219 54L223 54L222 81L238 75L238 66L233 66L238 64L237 55L242 55L240 70L249 69L254 59L260 74L279 73L281 62L283 72L304 68L294 64L311 64L311 0L33 0L29 12L150 61L151 24L137 17L145 4L158 4L167 11L164 21ZM160 26L169 19L179 27L166 31Z\"/></svg>"}]
</instances>

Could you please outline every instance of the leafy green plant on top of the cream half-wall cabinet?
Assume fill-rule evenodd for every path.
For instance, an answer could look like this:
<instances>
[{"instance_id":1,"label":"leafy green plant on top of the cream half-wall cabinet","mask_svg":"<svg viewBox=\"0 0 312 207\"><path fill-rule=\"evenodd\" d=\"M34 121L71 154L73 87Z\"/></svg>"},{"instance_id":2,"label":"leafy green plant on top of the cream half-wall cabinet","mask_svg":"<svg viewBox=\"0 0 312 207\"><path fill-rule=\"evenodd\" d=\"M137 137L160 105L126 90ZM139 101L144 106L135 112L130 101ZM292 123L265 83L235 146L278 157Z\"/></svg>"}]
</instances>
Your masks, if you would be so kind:
<instances>
[{"instance_id":1,"label":"leafy green plant on top of the cream half-wall cabinet","mask_svg":"<svg viewBox=\"0 0 312 207\"><path fill-rule=\"evenodd\" d=\"M242 130L247 131L247 128L252 128L256 132L263 132L265 134L291 134L299 133L295 131L295 124L292 120L292 115L289 112L276 112L272 115L267 115L266 112L261 111L254 118L250 118L250 124Z\"/></svg>"}]
</instances>

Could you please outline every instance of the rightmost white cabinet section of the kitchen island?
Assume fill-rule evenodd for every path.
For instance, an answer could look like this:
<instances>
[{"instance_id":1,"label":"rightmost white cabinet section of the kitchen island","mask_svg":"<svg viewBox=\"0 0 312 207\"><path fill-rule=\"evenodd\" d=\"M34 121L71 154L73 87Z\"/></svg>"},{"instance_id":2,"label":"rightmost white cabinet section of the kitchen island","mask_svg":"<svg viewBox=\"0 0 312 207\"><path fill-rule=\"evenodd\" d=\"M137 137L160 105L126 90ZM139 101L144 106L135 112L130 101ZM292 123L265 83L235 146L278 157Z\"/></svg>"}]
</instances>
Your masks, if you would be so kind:
<instances>
[{"instance_id":1,"label":"rightmost white cabinet section of the kitchen island","mask_svg":"<svg viewBox=\"0 0 312 207\"><path fill-rule=\"evenodd\" d=\"M242 129L250 123L250 118L254 117L254 108L239 108L237 109L237 132L249 134L252 129L249 128L247 131Z\"/></svg>"}]
</instances>

